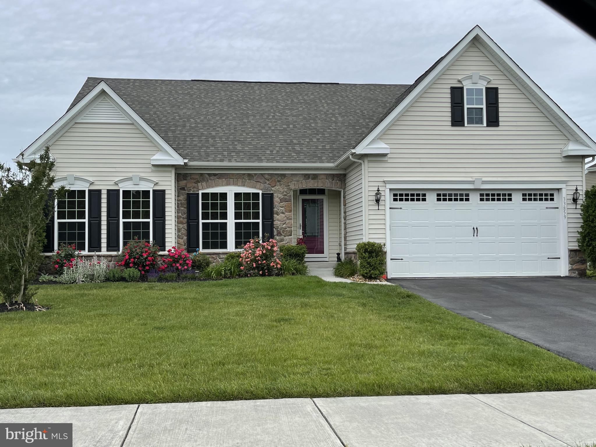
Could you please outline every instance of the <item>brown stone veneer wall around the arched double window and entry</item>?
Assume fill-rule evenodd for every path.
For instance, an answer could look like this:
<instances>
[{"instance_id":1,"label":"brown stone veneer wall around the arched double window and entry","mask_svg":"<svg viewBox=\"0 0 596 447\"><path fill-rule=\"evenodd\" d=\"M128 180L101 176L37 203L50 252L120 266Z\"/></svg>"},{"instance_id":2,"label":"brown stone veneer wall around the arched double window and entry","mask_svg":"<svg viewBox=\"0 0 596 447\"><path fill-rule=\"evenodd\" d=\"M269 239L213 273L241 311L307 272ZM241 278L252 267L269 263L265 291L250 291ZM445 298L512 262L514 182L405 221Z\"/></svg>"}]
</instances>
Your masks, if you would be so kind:
<instances>
[{"instance_id":1,"label":"brown stone veneer wall around the arched double window and entry","mask_svg":"<svg viewBox=\"0 0 596 447\"><path fill-rule=\"evenodd\" d=\"M176 209L178 212L179 247L187 247L187 193L198 193L207 188L240 186L273 193L275 240L291 244L292 235L292 191L300 188L333 188L343 190L346 184L344 174L223 174L223 173L178 173L176 174ZM225 254L210 254L221 259Z\"/></svg>"}]
</instances>

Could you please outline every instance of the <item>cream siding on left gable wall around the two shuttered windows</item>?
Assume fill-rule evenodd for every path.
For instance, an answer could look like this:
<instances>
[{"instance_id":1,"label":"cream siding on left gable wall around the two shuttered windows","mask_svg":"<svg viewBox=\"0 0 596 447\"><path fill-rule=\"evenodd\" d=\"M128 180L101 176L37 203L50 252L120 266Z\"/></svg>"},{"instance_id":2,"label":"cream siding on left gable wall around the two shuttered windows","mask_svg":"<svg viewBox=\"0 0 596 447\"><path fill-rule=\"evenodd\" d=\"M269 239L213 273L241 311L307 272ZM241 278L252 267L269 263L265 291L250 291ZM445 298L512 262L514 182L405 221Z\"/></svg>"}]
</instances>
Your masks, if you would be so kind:
<instances>
[{"instance_id":1,"label":"cream siding on left gable wall around the two shuttered windows","mask_svg":"<svg viewBox=\"0 0 596 447\"><path fill-rule=\"evenodd\" d=\"M56 159L55 176L82 176L101 189L101 250L106 248L106 190L117 190L114 181L138 174L157 181L155 190L166 190L166 248L173 237L172 166L151 166L159 149L132 123L75 123L50 147Z\"/></svg>"}]
</instances>

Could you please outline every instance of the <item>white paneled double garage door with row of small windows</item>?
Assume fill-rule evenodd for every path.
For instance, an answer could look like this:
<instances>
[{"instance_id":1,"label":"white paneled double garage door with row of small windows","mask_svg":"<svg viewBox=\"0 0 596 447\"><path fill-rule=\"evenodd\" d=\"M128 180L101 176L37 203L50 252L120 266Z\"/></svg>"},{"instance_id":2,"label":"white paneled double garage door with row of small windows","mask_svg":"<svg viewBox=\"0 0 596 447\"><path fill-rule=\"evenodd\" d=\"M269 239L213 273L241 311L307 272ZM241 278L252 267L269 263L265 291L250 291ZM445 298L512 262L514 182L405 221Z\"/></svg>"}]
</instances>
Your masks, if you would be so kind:
<instances>
[{"instance_id":1,"label":"white paneled double garage door with row of small windows","mask_svg":"<svg viewBox=\"0 0 596 447\"><path fill-rule=\"evenodd\" d=\"M389 276L561 274L558 191L390 191Z\"/></svg>"}]
</instances>

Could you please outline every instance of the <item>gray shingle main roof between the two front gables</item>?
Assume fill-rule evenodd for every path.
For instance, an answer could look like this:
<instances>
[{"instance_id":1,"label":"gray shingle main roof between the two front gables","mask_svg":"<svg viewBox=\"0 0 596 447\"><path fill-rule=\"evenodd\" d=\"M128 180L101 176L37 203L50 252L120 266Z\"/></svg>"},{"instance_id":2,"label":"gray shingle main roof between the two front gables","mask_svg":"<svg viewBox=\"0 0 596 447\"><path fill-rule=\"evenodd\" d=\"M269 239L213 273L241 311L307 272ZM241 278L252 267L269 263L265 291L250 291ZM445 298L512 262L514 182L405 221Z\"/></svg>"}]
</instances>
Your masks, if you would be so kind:
<instances>
[{"instance_id":1,"label":"gray shingle main roof between the two front gables","mask_svg":"<svg viewBox=\"0 0 596 447\"><path fill-rule=\"evenodd\" d=\"M409 87L88 77L70 107L101 80L182 157L222 163L333 163Z\"/></svg>"}]
</instances>

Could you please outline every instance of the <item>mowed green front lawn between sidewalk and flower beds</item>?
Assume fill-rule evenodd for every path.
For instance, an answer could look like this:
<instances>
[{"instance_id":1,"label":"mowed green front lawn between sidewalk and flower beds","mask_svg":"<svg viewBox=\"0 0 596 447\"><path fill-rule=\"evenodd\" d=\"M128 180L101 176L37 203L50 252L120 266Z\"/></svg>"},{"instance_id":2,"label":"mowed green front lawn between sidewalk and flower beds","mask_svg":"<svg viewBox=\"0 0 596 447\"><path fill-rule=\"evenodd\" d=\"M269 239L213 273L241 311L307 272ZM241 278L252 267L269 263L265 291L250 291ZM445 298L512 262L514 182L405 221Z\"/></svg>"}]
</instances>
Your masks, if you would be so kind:
<instances>
[{"instance_id":1,"label":"mowed green front lawn between sidewalk and flower beds","mask_svg":"<svg viewBox=\"0 0 596 447\"><path fill-rule=\"evenodd\" d=\"M48 285L0 313L0 407L596 388L596 371L397 286Z\"/></svg>"}]
</instances>

